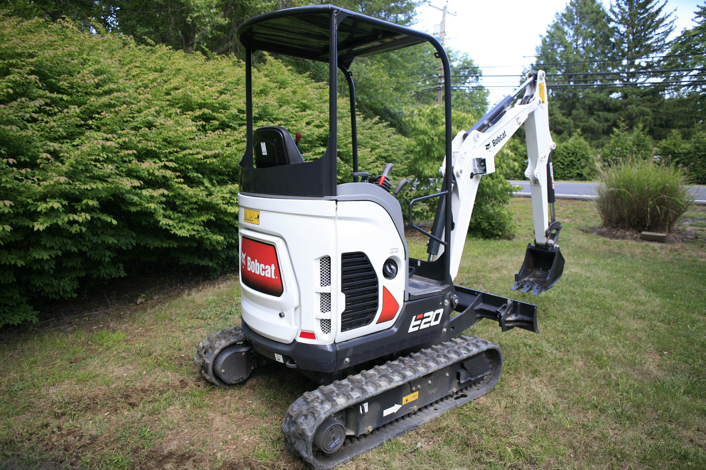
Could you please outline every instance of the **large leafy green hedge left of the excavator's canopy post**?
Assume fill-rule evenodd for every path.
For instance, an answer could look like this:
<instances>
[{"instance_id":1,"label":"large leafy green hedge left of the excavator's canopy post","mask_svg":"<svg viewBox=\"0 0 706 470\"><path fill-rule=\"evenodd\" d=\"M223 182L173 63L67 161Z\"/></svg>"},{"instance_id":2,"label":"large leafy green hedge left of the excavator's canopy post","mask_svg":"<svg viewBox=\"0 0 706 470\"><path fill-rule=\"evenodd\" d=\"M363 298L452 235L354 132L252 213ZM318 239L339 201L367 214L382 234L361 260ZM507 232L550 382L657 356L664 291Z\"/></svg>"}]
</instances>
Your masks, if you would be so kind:
<instances>
[{"instance_id":1,"label":"large leafy green hedge left of the excavator's canopy post","mask_svg":"<svg viewBox=\"0 0 706 470\"><path fill-rule=\"evenodd\" d=\"M232 61L0 24L0 325L139 265L237 259Z\"/></svg>"}]
</instances>

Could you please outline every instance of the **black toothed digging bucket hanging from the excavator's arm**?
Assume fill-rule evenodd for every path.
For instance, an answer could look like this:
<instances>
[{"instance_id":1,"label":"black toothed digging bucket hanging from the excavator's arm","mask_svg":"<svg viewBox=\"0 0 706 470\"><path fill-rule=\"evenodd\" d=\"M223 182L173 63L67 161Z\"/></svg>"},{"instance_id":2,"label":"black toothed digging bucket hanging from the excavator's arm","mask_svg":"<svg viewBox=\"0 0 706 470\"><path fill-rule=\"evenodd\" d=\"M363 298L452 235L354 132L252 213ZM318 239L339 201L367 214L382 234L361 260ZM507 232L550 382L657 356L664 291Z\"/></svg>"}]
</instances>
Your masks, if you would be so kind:
<instances>
[{"instance_id":1,"label":"black toothed digging bucket hanging from the excavator's arm","mask_svg":"<svg viewBox=\"0 0 706 470\"><path fill-rule=\"evenodd\" d=\"M532 295L539 295L551 289L554 283L561 279L564 272L564 257L558 246L546 248L527 244L525 262L522 263L520 272L515 274L513 291L522 289L522 292L532 291Z\"/></svg>"}]
</instances>

